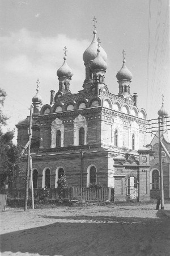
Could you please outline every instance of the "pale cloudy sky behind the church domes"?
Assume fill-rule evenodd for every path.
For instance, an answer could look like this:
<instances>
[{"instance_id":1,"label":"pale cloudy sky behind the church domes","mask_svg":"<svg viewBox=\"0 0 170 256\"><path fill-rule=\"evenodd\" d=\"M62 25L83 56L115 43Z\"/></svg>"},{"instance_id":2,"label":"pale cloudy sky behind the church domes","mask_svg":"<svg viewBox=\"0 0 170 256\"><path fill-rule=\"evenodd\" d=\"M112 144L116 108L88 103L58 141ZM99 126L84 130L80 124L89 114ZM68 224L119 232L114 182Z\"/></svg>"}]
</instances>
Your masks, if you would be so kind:
<instances>
[{"instance_id":1,"label":"pale cloudy sky behind the church domes","mask_svg":"<svg viewBox=\"0 0 170 256\"><path fill-rule=\"evenodd\" d=\"M170 115L168 0L1 0L0 9L0 86L7 93L3 112L9 117L5 129L14 129L29 115L37 79L43 104L49 104L50 90L58 91L56 72L65 46L74 73L71 92L83 89L82 56L93 38L94 16L108 55L109 92L118 94L116 74L125 49L138 108L146 109L148 119L157 118L164 94Z\"/></svg>"}]
</instances>

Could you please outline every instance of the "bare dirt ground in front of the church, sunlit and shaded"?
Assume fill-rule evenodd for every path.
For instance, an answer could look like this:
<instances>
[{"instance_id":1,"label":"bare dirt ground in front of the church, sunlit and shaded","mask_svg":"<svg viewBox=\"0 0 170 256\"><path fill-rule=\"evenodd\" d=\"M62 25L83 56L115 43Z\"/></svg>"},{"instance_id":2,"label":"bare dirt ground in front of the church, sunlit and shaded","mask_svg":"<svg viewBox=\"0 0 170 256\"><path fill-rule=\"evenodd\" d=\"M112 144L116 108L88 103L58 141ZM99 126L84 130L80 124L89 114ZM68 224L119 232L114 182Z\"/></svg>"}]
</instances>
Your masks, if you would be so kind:
<instances>
[{"instance_id":1,"label":"bare dirt ground in front of the church, sunlit and shaded","mask_svg":"<svg viewBox=\"0 0 170 256\"><path fill-rule=\"evenodd\" d=\"M1 213L1 255L170 255L170 218L155 204ZM170 212L170 204L165 204Z\"/></svg>"}]
</instances>

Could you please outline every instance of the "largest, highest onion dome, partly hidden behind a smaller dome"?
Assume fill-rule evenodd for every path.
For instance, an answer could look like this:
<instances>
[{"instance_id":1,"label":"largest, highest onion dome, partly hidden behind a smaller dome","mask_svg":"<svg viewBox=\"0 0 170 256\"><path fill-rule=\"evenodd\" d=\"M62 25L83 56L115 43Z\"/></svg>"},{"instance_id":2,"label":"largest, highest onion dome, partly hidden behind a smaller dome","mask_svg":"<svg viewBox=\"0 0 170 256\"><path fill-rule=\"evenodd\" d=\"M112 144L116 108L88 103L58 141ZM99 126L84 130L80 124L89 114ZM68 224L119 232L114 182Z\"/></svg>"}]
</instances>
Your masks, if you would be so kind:
<instances>
[{"instance_id":1,"label":"largest, highest onion dome, partly hidden behind a smaller dome","mask_svg":"<svg viewBox=\"0 0 170 256\"><path fill-rule=\"evenodd\" d=\"M97 48L98 48L97 39L96 39L97 31L94 30L93 33L94 33L94 39L92 40L90 46L83 53L83 60L84 60L85 64L88 61L94 60L95 57L97 56ZM104 61L107 60L107 53L105 53L105 51L102 47L100 47L100 55L101 55L101 57L103 57Z\"/></svg>"}]
</instances>

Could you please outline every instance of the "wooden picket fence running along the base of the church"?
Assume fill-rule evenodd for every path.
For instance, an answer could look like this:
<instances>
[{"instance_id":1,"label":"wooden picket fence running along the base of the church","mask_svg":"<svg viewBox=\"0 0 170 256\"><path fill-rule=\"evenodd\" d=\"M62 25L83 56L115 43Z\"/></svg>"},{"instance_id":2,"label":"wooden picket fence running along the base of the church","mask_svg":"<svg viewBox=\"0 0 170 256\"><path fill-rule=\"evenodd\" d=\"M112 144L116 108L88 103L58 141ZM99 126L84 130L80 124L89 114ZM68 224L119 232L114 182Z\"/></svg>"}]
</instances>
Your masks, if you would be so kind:
<instances>
[{"instance_id":1,"label":"wooden picket fence running along the base of the church","mask_svg":"<svg viewBox=\"0 0 170 256\"><path fill-rule=\"evenodd\" d=\"M24 199L24 188L0 189L0 194L6 194L8 198ZM44 197L56 199L69 199L79 201L114 201L113 188L34 188L35 199ZM28 189L28 198L31 198L31 189Z\"/></svg>"}]
</instances>

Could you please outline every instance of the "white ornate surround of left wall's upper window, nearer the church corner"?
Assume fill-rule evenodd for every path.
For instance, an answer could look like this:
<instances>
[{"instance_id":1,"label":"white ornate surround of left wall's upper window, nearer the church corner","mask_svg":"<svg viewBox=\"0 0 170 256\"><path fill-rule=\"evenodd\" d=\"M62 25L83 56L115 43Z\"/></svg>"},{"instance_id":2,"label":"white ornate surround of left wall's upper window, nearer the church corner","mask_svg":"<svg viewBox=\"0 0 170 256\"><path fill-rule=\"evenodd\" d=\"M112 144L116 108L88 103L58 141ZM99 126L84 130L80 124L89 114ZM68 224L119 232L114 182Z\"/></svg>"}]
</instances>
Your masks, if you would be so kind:
<instances>
[{"instance_id":1,"label":"white ornate surround of left wall's upper window, nearer the church corner","mask_svg":"<svg viewBox=\"0 0 170 256\"><path fill-rule=\"evenodd\" d=\"M83 117L81 114L78 115L74 119L74 146L78 146L79 144L79 130L80 128L84 129L84 145L87 144L87 121L86 118Z\"/></svg>"}]
</instances>

